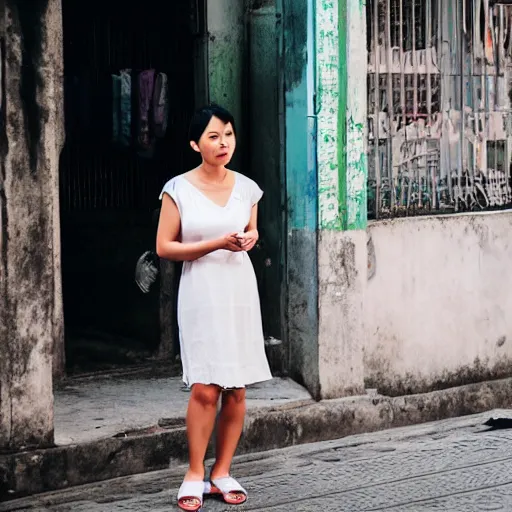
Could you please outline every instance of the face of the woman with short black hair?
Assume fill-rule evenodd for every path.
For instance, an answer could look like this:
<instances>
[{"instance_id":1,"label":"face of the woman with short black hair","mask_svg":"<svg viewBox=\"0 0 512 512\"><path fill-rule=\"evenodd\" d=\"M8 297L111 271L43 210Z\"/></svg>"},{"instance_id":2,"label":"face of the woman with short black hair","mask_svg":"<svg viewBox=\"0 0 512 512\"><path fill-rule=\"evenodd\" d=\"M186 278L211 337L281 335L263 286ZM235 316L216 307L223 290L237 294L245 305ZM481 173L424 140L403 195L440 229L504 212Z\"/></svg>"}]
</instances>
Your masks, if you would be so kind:
<instances>
[{"instance_id":1,"label":"face of the woman with short black hair","mask_svg":"<svg viewBox=\"0 0 512 512\"><path fill-rule=\"evenodd\" d=\"M224 124L218 117L212 117L199 144L190 143L192 148L201 153L203 160L212 165L227 165L236 147L235 132L231 123Z\"/></svg>"}]
</instances>

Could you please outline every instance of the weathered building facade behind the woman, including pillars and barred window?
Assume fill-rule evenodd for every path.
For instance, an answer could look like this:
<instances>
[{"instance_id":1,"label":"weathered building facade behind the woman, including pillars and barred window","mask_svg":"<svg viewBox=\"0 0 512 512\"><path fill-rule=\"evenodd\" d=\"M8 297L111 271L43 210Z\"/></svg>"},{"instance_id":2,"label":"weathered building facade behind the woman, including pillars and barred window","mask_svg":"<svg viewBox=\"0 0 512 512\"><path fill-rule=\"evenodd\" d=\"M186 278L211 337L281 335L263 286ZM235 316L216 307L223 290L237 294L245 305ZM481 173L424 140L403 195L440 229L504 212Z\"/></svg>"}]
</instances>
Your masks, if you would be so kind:
<instances>
[{"instance_id":1,"label":"weathered building facade behind the woman, including pillars and barred window","mask_svg":"<svg viewBox=\"0 0 512 512\"><path fill-rule=\"evenodd\" d=\"M2 4L1 449L53 443L54 379L98 340L177 355L175 267L144 298L132 272L207 101L234 112L233 165L265 190L253 261L275 374L317 399L510 375L512 7L183 0L169 31L157 2L144 23L104 4ZM141 160L101 138L103 103L70 111L69 94L89 105L149 68L174 84L172 151Z\"/></svg>"}]
</instances>

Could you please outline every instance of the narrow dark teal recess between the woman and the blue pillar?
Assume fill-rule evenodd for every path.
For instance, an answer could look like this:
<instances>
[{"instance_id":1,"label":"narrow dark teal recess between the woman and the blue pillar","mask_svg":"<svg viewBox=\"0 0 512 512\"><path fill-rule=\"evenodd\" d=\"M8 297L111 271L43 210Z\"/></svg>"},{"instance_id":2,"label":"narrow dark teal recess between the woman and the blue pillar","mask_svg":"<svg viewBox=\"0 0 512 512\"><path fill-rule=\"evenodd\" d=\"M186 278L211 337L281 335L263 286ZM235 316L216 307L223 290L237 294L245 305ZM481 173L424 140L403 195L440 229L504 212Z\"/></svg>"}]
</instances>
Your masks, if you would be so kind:
<instances>
[{"instance_id":1,"label":"narrow dark teal recess between the woman and the blue pillar","mask_svg":"<svg viewBox=\"0 0 512 512\"><path fill-rule=\"evenodd\" d=\"M289 368L286 331L286 189L284 175L284 69L277 3L254 2L248 17L248 173L264 190L260 240L251 257L258 278L267 355L274 375Z\"/></svg>"}]
</instances>

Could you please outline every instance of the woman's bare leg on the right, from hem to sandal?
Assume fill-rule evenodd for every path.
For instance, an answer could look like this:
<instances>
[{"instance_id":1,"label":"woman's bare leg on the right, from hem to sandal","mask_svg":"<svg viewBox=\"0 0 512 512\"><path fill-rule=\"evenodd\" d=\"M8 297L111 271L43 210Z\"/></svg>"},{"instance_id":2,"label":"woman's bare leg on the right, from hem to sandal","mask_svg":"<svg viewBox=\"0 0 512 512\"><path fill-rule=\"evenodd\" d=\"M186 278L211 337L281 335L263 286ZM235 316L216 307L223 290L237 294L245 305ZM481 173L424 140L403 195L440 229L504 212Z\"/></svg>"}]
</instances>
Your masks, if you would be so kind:
<instances>
[{"instance_id":1,"label":"woman's bare leg on the right, from hem to sandal","mask_svg":"<svg viewBox=\"0 0 512 512\"><path fill-rule=\"evenodd\" d=\"M222 409L217 423L217 446L212 478L229 475L231 462L242 434L245 417L245 389L222 394Z\"/></svg>"}]
</instances>

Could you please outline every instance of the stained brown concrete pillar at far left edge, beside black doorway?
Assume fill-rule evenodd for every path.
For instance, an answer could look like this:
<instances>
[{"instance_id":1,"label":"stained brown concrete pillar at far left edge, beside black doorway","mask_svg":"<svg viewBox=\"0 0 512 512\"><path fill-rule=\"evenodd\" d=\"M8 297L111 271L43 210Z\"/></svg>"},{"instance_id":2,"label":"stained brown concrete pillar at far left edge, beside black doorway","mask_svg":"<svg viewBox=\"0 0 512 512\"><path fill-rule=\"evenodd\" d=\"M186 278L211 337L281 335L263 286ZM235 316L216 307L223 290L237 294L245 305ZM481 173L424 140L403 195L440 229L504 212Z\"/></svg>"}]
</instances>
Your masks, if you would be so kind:
<instances>
[{"instance_id":1,"label":"stained brown concrete pillar at far left edge, beside black doorway","mask_svg":"<svg viewBox=\"0 0 512 512\"><path fill-rule=\"evenodd\" d=\"M7 0L0 131L0 449L53 441L52 358L62 336L59 0Z\"/></svg>"}]
</instances>

